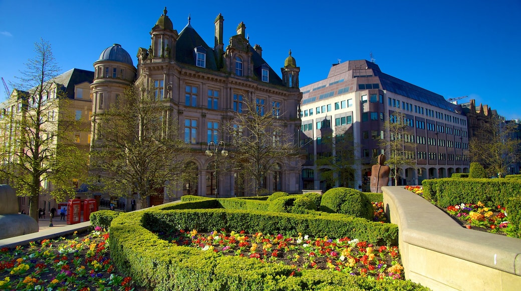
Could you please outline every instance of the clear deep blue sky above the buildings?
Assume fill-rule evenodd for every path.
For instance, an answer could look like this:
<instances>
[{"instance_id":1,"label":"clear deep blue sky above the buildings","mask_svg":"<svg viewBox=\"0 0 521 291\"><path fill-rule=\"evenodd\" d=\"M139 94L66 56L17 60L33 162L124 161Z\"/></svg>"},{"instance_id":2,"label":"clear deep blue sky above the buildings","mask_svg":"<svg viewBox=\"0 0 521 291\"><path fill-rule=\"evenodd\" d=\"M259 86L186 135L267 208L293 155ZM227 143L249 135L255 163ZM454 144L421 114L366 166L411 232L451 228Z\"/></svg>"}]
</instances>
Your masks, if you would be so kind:
<instances>
[{"instance_id":1,"label":"clear deep blue sky above the buildings","mask_svg":"<svg viewBox=\"0 0 521 291\"><path fill-rule=\"evenodd\" d=\"M521 0L0 0L0 77L15 81L40 38L52 44L64 72L93 70L113 43L136 65L138 48L150 46L150 30L165 6L174 29L180 32L190 14L192 27L210 46L219 13L225 45L244 21L250 42L262 46L279 76L291 49L302 86L325 79L338 59L369 59L373 52L391 76L445 99L467 95L461 102L473 98L507 119L521 118ZM4 91L0 86L1 100Z\"/></svg>"}]
</instances>

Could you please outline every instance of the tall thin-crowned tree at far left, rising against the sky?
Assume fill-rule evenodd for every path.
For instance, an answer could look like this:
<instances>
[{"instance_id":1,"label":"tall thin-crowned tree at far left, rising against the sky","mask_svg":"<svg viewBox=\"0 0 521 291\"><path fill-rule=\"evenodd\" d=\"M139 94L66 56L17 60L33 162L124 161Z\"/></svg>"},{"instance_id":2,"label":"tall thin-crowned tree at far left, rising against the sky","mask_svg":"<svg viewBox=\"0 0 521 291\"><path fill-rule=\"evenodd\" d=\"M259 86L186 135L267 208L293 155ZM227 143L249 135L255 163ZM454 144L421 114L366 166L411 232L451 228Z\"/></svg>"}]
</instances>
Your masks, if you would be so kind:
<instances>
[{"instance_id":1,"label":"tall thin-crowned tree at far left, rising against the sky","mask_svg":"<svg viewBox=\"0 0 521 291\"><path fill-rule=\"evenodd\" d=\"M17 195L29 197L29 215L38 221L44 181L51 182L51 195L64 200L73 195L71 178L86 176L88 153L77 148L71 132L81 130L67 110L69 101L53 78L60 68L51 44L34 44L35 56L20 71L10 99L5 103L0 144L3 179L14 185Z\"/></svg>"}]
</instances>

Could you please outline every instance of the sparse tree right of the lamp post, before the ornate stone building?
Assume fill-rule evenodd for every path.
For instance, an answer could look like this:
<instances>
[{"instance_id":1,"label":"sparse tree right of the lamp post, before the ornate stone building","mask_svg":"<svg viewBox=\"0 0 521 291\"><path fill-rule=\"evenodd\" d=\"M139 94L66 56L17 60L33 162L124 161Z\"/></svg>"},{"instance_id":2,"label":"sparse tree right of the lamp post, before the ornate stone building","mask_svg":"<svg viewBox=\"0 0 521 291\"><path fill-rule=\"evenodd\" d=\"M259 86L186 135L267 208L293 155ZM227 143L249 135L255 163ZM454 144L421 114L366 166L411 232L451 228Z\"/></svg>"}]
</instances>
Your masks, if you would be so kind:
<instances>
[{"instance_id":1,"label":"sparse tree right of the lamp post, before the ornate stone building","mask_svg":"<svg viewBox=\"0 0 521 291\"><path fill-rule=\"evenodd\" d=\"M288 134L284 120L275 111L265 112L263 106L245 96L242 112L235 113L225 129L232 139L230 166L238 177L254 181L255 195L267 191L260 187L267 173L274 171L276 162L294 159L298 154L294 137Z\"/></svg>"}]
</instances>

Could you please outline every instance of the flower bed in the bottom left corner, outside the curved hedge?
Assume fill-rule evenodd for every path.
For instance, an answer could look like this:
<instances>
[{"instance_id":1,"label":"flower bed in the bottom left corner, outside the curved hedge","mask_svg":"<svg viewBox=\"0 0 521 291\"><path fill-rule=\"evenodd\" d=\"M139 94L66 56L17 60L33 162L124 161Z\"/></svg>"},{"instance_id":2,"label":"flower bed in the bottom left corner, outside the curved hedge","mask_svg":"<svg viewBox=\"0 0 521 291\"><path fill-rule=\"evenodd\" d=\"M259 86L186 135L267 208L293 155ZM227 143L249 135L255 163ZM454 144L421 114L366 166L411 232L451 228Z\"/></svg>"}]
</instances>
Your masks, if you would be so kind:
<instances>
[{"instance_id":1,"label":"flower bed in the bottom left corner, outside the curved hedge","mask_svg":"<svg viewBox=\"0 0 521 291\"><path fill-rule=\"evenodd\" d=\"M110 260L108 233L75 233L0 250L0 290L145 290Z\"/></svg>"}]
</instances>

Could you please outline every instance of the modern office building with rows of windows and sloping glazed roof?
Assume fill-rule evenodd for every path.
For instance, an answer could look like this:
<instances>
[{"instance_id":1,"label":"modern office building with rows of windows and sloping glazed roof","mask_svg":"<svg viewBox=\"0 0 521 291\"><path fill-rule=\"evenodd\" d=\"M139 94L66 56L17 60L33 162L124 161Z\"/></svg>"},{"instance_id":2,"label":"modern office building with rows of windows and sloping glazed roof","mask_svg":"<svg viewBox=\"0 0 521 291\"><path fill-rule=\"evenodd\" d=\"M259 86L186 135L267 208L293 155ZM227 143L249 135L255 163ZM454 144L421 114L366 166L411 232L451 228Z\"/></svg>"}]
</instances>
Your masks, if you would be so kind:
<instances>
[{"instance_id":1,"label":"modern office building with rows of windows and sloping glazed roof","mask_svg":"<svg viewBox=\"0 0 521 291\"><path fill-rule=\"evenodd\" d=\"M426 178L468 172L467 118L460 106L439 94L384 74L367 60L334 64L326 79L301 87L301 91L300 143L308 153L302 169L303 189L334 186L326 185L321 178L327 166L317 165L317 157L335 155L334 139L324 142L325 135L336 137L348 132L355 148L355 175L347 185L368 191L376 156L389 156L378 139L389 139L384 122L393 112L405 114L408 130L403 138L416 161L399 171L399 185L417 185ZM337 181L336 186L344 182Z\"/></svg>"}]
</instances>

